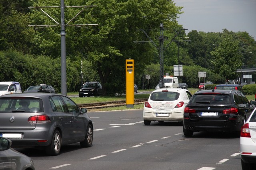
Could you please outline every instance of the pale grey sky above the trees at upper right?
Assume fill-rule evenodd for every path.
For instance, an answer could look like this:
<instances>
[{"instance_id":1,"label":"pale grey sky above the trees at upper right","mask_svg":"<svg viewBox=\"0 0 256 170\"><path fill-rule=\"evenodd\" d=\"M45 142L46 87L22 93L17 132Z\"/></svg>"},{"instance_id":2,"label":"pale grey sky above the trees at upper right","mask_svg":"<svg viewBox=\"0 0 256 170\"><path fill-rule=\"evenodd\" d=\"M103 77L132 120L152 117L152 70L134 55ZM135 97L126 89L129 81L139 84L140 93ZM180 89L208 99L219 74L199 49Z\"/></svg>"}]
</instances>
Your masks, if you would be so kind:
<instances>
[{"instance_id":1,"label":"pale grey sky above the trees at upper right","mask_svg":"<svg viewBox=\"0 0 256 170\"><path fill-rule=\"evenodd\" d=\"M173 0L183 6L177 21L188 31L246 31L256 40L256 0Z\"/></svg>"}]
</instances>

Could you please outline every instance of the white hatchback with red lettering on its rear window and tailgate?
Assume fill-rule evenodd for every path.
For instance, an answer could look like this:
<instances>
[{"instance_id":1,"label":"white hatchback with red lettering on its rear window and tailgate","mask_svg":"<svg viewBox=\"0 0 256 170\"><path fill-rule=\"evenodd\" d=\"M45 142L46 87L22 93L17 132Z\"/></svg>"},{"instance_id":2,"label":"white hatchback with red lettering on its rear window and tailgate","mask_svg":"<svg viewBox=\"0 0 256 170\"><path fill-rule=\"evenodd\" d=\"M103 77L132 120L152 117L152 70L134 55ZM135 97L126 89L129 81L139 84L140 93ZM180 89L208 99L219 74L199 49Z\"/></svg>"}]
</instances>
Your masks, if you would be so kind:
<instances>
[{"instance_id":1,"label":"white hatchback with red lettering on its rear window and tailgate","mask_svg":"<svg viewBox=\"0 0 256 170\"><path fill-rule=\"evenodd\" d=\"M192 94L186 89L154 90L144 104L144 124L150 125L151 121L183 121L184 108L191 97Z\"/></svg>"}]
</instances>

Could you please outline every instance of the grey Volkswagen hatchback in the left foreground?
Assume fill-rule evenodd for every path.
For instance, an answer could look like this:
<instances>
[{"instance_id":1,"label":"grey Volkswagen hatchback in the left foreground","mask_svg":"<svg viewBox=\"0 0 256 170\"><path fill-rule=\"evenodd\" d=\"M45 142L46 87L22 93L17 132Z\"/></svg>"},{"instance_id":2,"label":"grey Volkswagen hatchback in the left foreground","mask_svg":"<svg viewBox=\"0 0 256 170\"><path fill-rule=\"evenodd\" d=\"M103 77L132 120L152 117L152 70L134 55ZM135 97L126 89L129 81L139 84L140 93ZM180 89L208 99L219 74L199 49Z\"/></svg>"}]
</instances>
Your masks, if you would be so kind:
<instances>
[{"instance_id":1,"label":"grey Volkswagen hatchback in the left foreground","mask_svg":"<svg viewBox=\"0 0 256 170\"><path fill-rule=\"evenodd\" d=\"M62 145L71 143L90 147L93 124L86 112L61 94L0 96L0 137L10 139L13 148L45 149L49 155L58 155Z\"/></svg>"}]
</instances>

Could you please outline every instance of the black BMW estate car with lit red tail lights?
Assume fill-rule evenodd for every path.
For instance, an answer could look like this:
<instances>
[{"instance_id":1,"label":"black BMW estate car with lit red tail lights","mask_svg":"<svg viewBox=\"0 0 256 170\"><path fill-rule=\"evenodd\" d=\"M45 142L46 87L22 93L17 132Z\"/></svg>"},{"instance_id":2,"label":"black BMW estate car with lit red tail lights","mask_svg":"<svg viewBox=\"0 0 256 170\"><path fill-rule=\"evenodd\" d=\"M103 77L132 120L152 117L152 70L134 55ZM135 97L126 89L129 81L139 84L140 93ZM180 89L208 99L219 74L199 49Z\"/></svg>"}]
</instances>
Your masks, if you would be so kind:
<instances>
[{"instance_id":1,"label":"black BMW estate car with lit red tail lights","mask_svg":"<svg viewBox=\"0 0 256 170\"><path fill-rule=\"evenodd\" d=\"M183 133L191 137L199 131L233 131L240 134L255 102L238 90L198 90L184 109Z\"/></svg>"}]
</instances>

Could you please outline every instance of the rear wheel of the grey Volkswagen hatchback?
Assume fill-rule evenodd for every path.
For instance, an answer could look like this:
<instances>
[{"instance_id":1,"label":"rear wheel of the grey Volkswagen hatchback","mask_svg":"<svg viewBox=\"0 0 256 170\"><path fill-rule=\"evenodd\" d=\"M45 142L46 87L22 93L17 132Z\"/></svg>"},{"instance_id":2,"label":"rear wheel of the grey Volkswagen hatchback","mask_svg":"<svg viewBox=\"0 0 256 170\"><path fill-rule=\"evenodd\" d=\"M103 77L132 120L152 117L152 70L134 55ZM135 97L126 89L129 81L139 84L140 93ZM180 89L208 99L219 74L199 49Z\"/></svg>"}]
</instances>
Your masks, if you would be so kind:
<instances>
[{"instance_id":1,"label":"rear wheel of the grey Volkswagen hatchback","mask_svg":"<svg viewBox=\"0 0 256 170\"><path fill-rule=\"evenodd\" d=\"M48 155L58 155L61 147L61 136L58 130L55 130L52 136L50 145L46 147L46 153Z\"/></svg>"}]
</instances>

